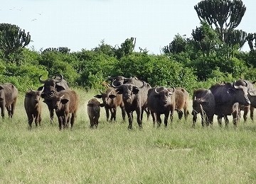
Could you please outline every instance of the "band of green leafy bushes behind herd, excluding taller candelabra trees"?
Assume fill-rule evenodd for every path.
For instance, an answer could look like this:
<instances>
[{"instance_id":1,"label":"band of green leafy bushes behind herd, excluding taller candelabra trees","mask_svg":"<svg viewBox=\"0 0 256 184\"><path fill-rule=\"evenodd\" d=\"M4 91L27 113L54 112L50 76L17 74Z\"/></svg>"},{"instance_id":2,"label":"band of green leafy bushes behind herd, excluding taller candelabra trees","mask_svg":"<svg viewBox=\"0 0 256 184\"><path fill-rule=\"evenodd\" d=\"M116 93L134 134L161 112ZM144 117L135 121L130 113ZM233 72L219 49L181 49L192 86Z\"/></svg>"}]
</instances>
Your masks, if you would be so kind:
<instances>
[{"instance_id":1,"label":"band of green leafy bushes behind herd, excluding taller candelabra trees","mask_svg":"<svg viewBox=\"0 0 256 184\"><path fill-rule=\"evenodd\" d=\"M221 81L255 80L254 52L237 51L226 59L186 50L155 55L145 50L133 52L133 47L134 38L129 38L119 48L102 41L98 47L80 52L59 47L41 52L24 48L19 54L9 54L8 59L1 54L0 83L11 82L27 91L41 85L40 75L48 79L63 74L70 86L102 89L102 82L109 82L107 76L122 75L137 76L151 86L183 86L192 92Z\"/></svg>"}]
</instances>

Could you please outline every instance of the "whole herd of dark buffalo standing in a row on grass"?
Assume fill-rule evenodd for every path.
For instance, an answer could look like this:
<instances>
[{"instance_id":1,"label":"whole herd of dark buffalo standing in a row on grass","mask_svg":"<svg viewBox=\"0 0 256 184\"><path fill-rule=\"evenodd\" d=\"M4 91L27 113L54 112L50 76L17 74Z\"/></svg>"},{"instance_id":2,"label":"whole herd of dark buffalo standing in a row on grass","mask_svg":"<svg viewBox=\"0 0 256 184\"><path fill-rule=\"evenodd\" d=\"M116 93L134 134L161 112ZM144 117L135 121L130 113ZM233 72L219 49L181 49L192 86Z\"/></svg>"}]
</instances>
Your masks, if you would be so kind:
<instances>
[{"instance_id":1,"label":"whole herd of dark buffalo standing in a row on grass","mask_svg":"<svg viewBox=\"0 0 256 184\"><path fill-rule=\"evenodd\" d=\"M24 108L28 116L28 125L31 128L33 121L36 126L41 123L41 98L48 105L50 122L53 123L54 111L58 117L59 129L74 125L78 110L78 94L68 87L63 76L54 79L42 80L43 86L37 90L30 90L24 98ZM178 119L188 117L189 94L185 88L164 86L152 88L150 84L137 79L137 77L125 78L124 76L110 77L111 84L107 90L100 91L87 103L87 113L90 118L90 127L97 128L100 117L100 108L105 107L107 121L115 121L117 107L122 110L122 119L127 115L132 129L134 119L133 112L137 114L137 123L142 128L142 117L145 112L147 117L151 115L154 125L161 125L161 115L164 114L164 125L167 126L168 118L173 120L174 111L178 113ZM211 86L209 89L199 88L193 92L193 127L195 127L197 114L201 114L202 127L213 125L213 115L218 116L218 124L224 117L225 125L228 125L227 115L233 115L233 125L237 125L240 119L240 110L244 110L244 120L250 109L250 117L253 120L253 110L256 108L256 94L254 82L238 80L233 83L221 83ZM17 88L11 84L0 85L0 108L4 118L4 108L9 117L14 115L14 108L18 96ZM97 100L101 98L103 103Z\"/></svg>"}]
</instances>

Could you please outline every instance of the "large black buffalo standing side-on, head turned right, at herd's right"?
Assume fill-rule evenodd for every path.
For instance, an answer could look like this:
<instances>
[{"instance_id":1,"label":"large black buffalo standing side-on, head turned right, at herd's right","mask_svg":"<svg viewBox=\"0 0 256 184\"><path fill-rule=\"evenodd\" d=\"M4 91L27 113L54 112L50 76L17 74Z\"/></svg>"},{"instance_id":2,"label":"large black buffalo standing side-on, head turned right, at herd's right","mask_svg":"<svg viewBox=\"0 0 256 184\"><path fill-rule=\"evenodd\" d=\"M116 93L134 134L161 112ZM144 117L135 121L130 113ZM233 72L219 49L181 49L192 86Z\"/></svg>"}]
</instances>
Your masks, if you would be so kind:
<instances>
[{"instance_id":1,"label":"large black buffalo standing side-on, head turned right, at herd's right","mask_svg":"<svg viewBox=\"0 0 256 184\"><path fill-rule=\"evenodd\" d=\"M219 125L221 126L222 117L233 115L233 124L236 126L240 115L238 105L250 105L247 96L250 86L246 81L239 80L233 84L215 84L210 87L210 91L215 98L215 115L218 115ZM228 121L225 125L228 126Z\"/></svg>"}]
</instances>

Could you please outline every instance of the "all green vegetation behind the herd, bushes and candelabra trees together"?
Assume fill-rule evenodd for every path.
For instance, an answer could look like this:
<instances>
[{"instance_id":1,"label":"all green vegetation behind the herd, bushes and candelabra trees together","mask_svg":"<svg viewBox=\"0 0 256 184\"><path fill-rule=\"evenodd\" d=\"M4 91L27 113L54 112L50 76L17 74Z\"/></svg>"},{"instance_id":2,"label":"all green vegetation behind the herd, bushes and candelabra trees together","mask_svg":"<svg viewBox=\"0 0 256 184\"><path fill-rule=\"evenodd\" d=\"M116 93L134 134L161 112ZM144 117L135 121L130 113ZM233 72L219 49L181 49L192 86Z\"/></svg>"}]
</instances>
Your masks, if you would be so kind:
<instances>
[{"instance_id":1,"label":"all green vegetation behind the herd, bushes and candelabra trees together","mask_svg":"<svg viewBox=\"0 0 256 184\"><path fill-rule=\"evenodd\" d=\"M70 86L101 89L107 76L122 75L137 76L151 86L183 86L192 93L221 81L255 80L255 33L235 30L246 11L242 1L204 0L194 8L201 25L191 30L192 37L175 35L162 54L149 54L141 47L134 52L136 38L114 47L102 40L92 50L80 52L68 47L36 51L28 49L33 35L1 23L0 83L8 81L26 91L40 86L41 74L43 79L63 74ZM245 44L250 52L240 51Z\"/></svg>"}]
</instances>

